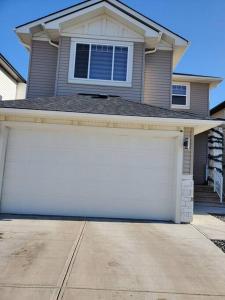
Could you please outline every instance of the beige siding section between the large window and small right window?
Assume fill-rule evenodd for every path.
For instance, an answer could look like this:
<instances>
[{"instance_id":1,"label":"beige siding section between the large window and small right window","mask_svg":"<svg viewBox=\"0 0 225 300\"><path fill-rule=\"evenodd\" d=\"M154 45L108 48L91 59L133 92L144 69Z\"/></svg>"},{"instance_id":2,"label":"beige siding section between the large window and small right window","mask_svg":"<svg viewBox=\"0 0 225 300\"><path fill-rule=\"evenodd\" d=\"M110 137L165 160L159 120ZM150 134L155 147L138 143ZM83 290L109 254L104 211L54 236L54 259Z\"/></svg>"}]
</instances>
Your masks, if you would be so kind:
<instances>
[{"instance_id":1,"label":"beige siding section between the large window and small right window","mask_svg":"<svg viewBox=\"0 0 225 300\"><path fill-rule=\"evenodd\" d=\"M172 56L165 50L145 56L144 103L170 108Z\"/></svg>"}]
</instances>

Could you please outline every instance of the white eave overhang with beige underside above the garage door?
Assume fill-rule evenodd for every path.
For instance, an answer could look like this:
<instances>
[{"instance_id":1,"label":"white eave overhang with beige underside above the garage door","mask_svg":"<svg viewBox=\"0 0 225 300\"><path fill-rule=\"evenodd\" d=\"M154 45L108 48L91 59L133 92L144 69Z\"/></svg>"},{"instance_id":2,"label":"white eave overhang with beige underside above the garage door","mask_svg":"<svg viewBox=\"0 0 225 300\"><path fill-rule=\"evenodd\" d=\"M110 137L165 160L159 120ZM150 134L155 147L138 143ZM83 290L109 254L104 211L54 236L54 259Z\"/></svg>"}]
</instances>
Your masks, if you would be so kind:
<instances>
[{"instance_id":1,"label":"white eave overhang with beige underside above the garage door","mask_svg":"<svg viewBox=\"0 0 225 300\"><path fill-rule=\"evenodd\" d=\"M16 118L17 119L14 119ZM112 124L120 124L120 126L128 125L142 125L143 129L150 129L151 126L166 126L177 127L180 130L183 128L193 128L194 135L207 131L211 128L224 124L221 120L199 120L199 119L178 119L178 118L158 118L158 117L138 117L138 116L122 116L122 115L105 115L105 114L88 114L76 112L59 112L59 111L45 111L45 110L29 110L29 109L0 109L0 121L13 122L20 120L21 122L32 123L48 123L45 120L51 120L51 124L64 124L62 120L67 120L65 124L77 125L79 122L96 122L107 124L112 127ZM116 126L117 127L117 126ZM119 127L119 126L118 126Z\"/></svg>"}]
</instances>

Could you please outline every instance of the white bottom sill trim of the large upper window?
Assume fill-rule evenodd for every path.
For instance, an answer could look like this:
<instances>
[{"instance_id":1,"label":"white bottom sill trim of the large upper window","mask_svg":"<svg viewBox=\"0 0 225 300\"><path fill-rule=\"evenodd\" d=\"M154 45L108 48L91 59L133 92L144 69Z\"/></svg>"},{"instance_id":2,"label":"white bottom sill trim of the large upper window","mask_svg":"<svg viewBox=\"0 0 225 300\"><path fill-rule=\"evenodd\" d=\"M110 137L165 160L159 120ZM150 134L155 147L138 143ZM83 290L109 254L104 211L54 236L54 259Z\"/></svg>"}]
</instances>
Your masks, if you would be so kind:
<instances>
[{"instance_id":1,"label":"white bottom sill trim of the large upper window","mask_svg":"<svg viewBox=\"0 0 225 300\"><path fill-rule=\"evenodd\" d=\"M104 86L119 86L132 87L132 83L128 81L110 81L110 80L95 80L95 79L76 79L69 78L69 83L87 84L87 85L104 85Z\"/></svg>"}]
</instances>

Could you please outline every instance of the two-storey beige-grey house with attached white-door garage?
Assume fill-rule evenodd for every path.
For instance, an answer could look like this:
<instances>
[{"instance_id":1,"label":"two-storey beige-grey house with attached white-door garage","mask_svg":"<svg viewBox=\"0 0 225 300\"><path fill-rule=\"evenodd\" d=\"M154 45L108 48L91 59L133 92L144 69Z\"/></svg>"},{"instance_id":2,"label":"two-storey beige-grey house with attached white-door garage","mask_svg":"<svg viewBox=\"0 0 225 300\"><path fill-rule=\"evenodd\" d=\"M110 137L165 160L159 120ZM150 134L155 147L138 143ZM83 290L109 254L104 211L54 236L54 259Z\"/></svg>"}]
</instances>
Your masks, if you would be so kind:
<instances>
[{"instance_id":1,"label":"two-storey beige-grey house with attached white-door garage","mask_svg":"<svg viewBox=\"0 0 225 300\"><path fill-rule=\"evenodd\" d=\"M1 212L188 223L194 140L220 78L172 74L189 42L117 0L23 24L27 99L0 103Z\"/></svg>"}]
</instances>

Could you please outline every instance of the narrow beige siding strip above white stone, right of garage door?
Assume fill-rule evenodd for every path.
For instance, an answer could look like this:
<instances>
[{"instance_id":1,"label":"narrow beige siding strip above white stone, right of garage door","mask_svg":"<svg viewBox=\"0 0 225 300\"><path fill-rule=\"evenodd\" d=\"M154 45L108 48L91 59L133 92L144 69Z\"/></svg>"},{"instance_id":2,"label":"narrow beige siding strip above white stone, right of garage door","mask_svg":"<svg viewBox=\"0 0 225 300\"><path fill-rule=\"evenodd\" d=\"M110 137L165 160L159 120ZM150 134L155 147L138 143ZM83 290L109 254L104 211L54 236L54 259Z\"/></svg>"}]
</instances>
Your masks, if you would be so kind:
<instances>
[{"instance_id":1,"label":"narrow beige siding strip above white stone, right of garage door","mask_svg":"<svg viewBox=\"0 0 225 300\"><path fill-rule=\"evenodd\" d=\"M194 151L194 133L192 128L184 129L184 138L190 138L190 149L184 149L183 156L183 174L192 175L193 174L193 151Z\"/></svg>"}]
</instances>

